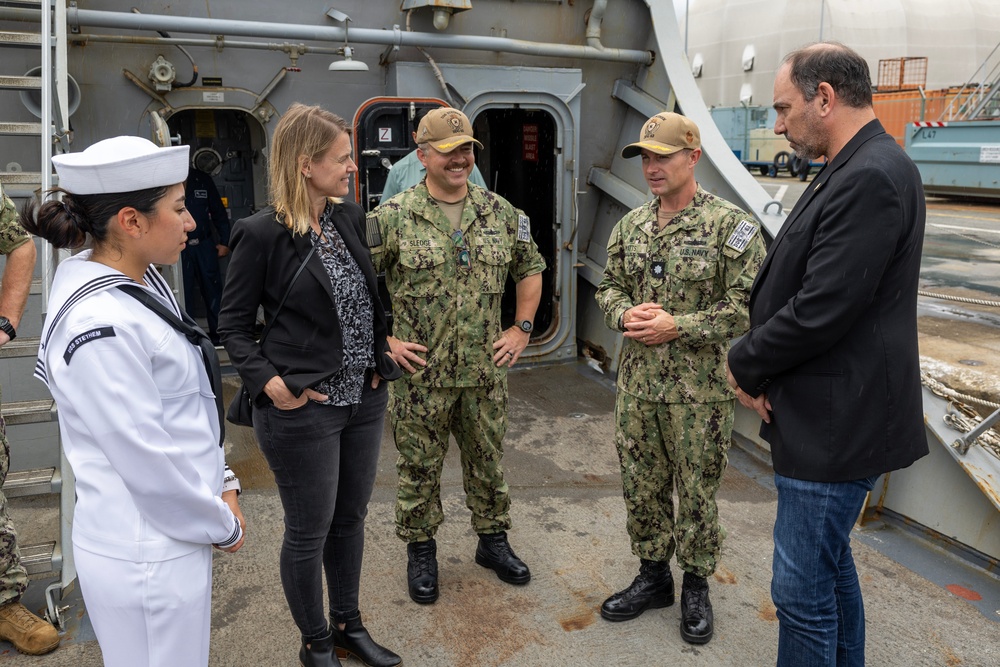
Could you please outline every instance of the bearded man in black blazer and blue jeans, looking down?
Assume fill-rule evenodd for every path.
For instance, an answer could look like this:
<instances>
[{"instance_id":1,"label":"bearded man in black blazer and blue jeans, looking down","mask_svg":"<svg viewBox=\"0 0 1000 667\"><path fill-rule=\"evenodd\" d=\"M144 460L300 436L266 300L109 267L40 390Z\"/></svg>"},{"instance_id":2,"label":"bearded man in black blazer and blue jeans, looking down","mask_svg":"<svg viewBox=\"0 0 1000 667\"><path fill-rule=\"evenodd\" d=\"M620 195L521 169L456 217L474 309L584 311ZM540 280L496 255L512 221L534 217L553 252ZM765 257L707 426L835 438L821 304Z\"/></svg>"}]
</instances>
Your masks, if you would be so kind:
<instances>
[{"instance_id":1,"label":"bearded man in black blazer and blue jeans, looking down","mask_svg":"<svg viewBox=\"0 0 1000 667\"><path fill-rule=\"evenodd\" d=\"M774 108L775 133L828 163L771 244L729 380L761 415L774 462L778 665L861 665L851 528L880 474L927 453L916 322L923 188L875 118L868 65L847 47L789 54Z\"/></svg>"}]
</instances>

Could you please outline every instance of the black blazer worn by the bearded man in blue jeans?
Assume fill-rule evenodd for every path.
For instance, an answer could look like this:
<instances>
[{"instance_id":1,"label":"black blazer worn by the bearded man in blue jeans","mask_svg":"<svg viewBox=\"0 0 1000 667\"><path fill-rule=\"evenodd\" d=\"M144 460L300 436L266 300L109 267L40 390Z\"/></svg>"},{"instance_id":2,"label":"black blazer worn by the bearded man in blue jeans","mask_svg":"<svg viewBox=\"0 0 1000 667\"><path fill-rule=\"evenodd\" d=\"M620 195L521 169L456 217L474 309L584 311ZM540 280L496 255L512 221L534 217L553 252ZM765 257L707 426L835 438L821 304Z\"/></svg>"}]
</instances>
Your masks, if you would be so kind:
<instances>
[{"instance_id":1,"label":"black blazer worn by the bearded man in blue jeans","mask_svg":"<svg viewBox=\"0 0 1000 667\"><path fill-rule=\"evenodd\" d=\"M927 453L917 356L920 174L873 120L799 198L750 292L729 367L773 408L774 470L845 482Z\"/></svg>"}]
</instances>

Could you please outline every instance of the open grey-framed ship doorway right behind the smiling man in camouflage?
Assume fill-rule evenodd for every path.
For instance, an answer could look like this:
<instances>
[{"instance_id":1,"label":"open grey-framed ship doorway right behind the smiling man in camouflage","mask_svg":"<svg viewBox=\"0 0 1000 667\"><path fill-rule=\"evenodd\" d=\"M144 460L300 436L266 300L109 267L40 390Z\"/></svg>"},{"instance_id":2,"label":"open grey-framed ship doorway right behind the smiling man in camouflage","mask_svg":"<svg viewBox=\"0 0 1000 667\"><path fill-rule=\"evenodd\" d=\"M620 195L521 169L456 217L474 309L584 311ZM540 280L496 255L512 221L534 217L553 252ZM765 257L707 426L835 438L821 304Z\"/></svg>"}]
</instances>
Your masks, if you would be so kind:
<instances>
[{"instance_id":1,"label":"open grey-framed ship doorway right behind the smiling man in camouflage","mask_svg":"<svg viewBox=\"0 0 1000 667\"><path fill-rule=\"evenodd\" d=\"M492 190L531 218L531 233L545 257L542 304L525 352L531 362L574 359L577 354L576 229L582 72L578 69L438 64L450 101L474 126L484 149L477 164ZM411 98L441 92L426 64L393 63L387 89ZM456 91L461 91L458 95ZM513 286L502 317L513 322Z\"/></svg>"}]
</instances>

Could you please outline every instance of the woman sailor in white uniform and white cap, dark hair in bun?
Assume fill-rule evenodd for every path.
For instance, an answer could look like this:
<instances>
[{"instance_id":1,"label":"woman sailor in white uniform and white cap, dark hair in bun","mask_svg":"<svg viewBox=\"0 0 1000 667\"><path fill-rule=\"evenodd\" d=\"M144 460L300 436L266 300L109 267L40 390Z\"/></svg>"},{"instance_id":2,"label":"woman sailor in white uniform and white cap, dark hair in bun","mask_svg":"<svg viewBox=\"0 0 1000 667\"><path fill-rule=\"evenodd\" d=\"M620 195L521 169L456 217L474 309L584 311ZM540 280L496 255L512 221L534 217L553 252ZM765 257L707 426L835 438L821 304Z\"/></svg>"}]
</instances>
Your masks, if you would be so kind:
<instances>
[{"instance_id":1,"label":"woman sailor in white uniform and white cap, dark hair in bun","mask_svg":"<svg viewBox=\"0 0 1000 667\"><path fill-rule=\"evenodd\" d=\"M56 400L76 476L73 555L109 667L207 665L212 546L243 543L221 387L192 344L204 333L189 340L119 289L182 320L152 264L175 263L194 228L187 153L116 137L54 157L63 201L22 216L56 247L93 245L59 265L35 375Z\"/></svg>"}]
</instances>

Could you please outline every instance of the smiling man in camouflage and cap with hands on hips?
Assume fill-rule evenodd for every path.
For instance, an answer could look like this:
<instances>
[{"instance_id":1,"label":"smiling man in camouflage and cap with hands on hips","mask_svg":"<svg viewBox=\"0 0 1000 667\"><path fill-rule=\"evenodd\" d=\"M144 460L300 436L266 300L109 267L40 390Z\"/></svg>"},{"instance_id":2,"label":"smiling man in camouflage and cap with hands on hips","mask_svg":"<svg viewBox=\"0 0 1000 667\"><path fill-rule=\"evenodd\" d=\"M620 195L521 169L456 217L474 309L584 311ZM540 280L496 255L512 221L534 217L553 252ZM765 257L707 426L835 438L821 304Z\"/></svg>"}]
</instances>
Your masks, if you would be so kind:
<instances>
[{"instance_id":1,"label":"smiling man in camouflage and cap with hands on hips","mask_svg":"<svg viewBox=\"0 0 1000 667\"><path fill-rule=\"evenodd\" d=\"M375 267L392 297L389 422L399 459L396 534L407 543L410 597L438 597L437 545L444 520L441 468L454 434L466 505L479 534L476 562L526 584L528 567L507 542L510 499L500 459L507 429L507 369L528 345L545 260L530 222L503 198L468 183L475 156L469 119L435 109L417 129L423 182L368 216ZM501 330L508 273L517 283L515 326Z\"/></svg>"}]
</instances>

